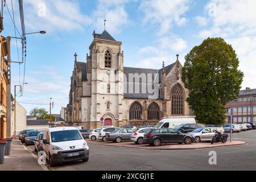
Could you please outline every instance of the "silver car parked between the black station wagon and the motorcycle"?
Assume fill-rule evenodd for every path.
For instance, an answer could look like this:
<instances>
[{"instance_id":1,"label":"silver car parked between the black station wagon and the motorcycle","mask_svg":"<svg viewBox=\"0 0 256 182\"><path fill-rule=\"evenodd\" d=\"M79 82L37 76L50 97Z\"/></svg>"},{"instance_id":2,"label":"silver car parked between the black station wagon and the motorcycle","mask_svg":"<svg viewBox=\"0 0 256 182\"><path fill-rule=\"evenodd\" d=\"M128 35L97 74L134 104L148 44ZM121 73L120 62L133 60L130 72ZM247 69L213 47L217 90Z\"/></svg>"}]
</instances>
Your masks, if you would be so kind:
<instances>
[{"instance_id":1,"label":"silver car parked between the black station wagon and the motorcycle","mask_svg":"<svg viewBox=\"0 0 256 182\"><path fill-rule=\"evenodd\" d=\"M200 127L194 131L189 132L195 137L195 142L199 143L202 141L211 141L213 136L215 135L215 130L224 133L224 129L222 127Z\"/></svg>"}]
</instances>

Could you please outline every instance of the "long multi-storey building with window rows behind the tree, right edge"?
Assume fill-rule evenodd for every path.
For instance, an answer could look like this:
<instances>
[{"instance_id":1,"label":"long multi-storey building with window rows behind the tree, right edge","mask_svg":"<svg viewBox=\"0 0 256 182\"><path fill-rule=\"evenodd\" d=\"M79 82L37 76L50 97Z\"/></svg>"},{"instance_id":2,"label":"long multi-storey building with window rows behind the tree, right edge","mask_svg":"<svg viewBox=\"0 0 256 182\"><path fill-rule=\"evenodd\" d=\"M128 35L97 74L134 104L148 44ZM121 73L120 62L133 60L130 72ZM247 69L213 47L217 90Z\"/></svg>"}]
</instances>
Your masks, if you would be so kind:
<instances>
[{"instance_id":1,"label":"long multi-storey building with window rows behind the tree, right edge","mask_svg":"<svg viewBox=\"0 0 256 182\"><path fill-rule=\"evenodd\" d=\"M226 104L226 109L233 108L233 122L256 122L256 89L241 90L236 100ZM226 122L230 122L227 112Z\"/></svg>"}]
</instances>

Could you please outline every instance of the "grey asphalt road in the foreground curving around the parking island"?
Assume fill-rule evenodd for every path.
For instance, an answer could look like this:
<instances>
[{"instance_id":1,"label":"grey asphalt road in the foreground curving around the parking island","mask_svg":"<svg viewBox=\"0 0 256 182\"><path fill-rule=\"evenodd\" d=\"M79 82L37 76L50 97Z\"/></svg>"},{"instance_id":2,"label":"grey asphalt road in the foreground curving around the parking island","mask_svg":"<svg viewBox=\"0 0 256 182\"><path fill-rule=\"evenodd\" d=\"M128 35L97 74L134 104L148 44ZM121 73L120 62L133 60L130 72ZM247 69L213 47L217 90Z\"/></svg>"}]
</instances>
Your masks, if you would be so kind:
<instances>
[{"instance_id":1,"label":"grey asphalt road in the foreground curving around the parking island","mask_svg":"<svg viewBox=\"0 0 256 182\"><path fill-rule=\"evenodd\" d=\"M256 170L256 130L234 134L242 146L201 150L142 150L89 144L88 162L74 162L49 168L53 170ZM30 147L32 150L33 146ZM209 152L217 154L210 165Z\"/></svg>"}]
</instances>

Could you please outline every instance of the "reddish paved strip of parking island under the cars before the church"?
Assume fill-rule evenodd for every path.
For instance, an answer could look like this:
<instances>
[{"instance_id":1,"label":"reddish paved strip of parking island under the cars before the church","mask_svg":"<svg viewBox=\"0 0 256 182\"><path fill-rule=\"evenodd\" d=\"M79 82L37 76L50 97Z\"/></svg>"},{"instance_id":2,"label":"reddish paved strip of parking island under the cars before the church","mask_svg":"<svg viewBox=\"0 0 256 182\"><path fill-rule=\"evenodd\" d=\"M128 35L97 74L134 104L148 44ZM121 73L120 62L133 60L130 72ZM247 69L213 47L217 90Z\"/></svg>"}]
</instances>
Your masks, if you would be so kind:
<instances>
[{"instance_id":1,"label":"reddish paved strip of parking island under the cars before the church","mask_svg":"<svg viewBox=\"0 0 256 182\"><path fill-rule=\"evenodd\" d=\"M88 140L88 144L98 144L102 146L115 146L115 147L128 147L128 148L138 148L145 150L197 150L205 148L214 148L214 147L228 147L228 146L237 146L246 144L243 141L232 141L226 143L213 143L210 142L200 142L192 144L162 144L160 146L151 146L149 144L136 144L135 142L103 142L102 140Z\"/></svg>"}]
</instances>

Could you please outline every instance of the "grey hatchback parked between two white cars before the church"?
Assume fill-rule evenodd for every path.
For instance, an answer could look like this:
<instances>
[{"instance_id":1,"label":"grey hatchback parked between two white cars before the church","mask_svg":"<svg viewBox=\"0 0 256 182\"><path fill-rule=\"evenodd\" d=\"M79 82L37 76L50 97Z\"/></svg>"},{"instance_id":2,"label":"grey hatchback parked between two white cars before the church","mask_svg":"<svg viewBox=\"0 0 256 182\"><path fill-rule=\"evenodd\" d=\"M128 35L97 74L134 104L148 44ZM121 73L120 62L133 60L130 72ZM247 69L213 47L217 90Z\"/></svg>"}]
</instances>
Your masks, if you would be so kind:
<instances>
[{"instance_id":1,"label":"grey hatchback parked between two white cars before the church","mask_svg":"<svg viewBox=\"0 0 256 182\"><path fill-rule=\"evenodd\" d=\"M121 128L120 130L115 130L112 133L107 133L106 140L113 141L113 142L121 142L121 141L131 140L132 133L133 133L133 129Z\"/></svg>"}]
</instances>

